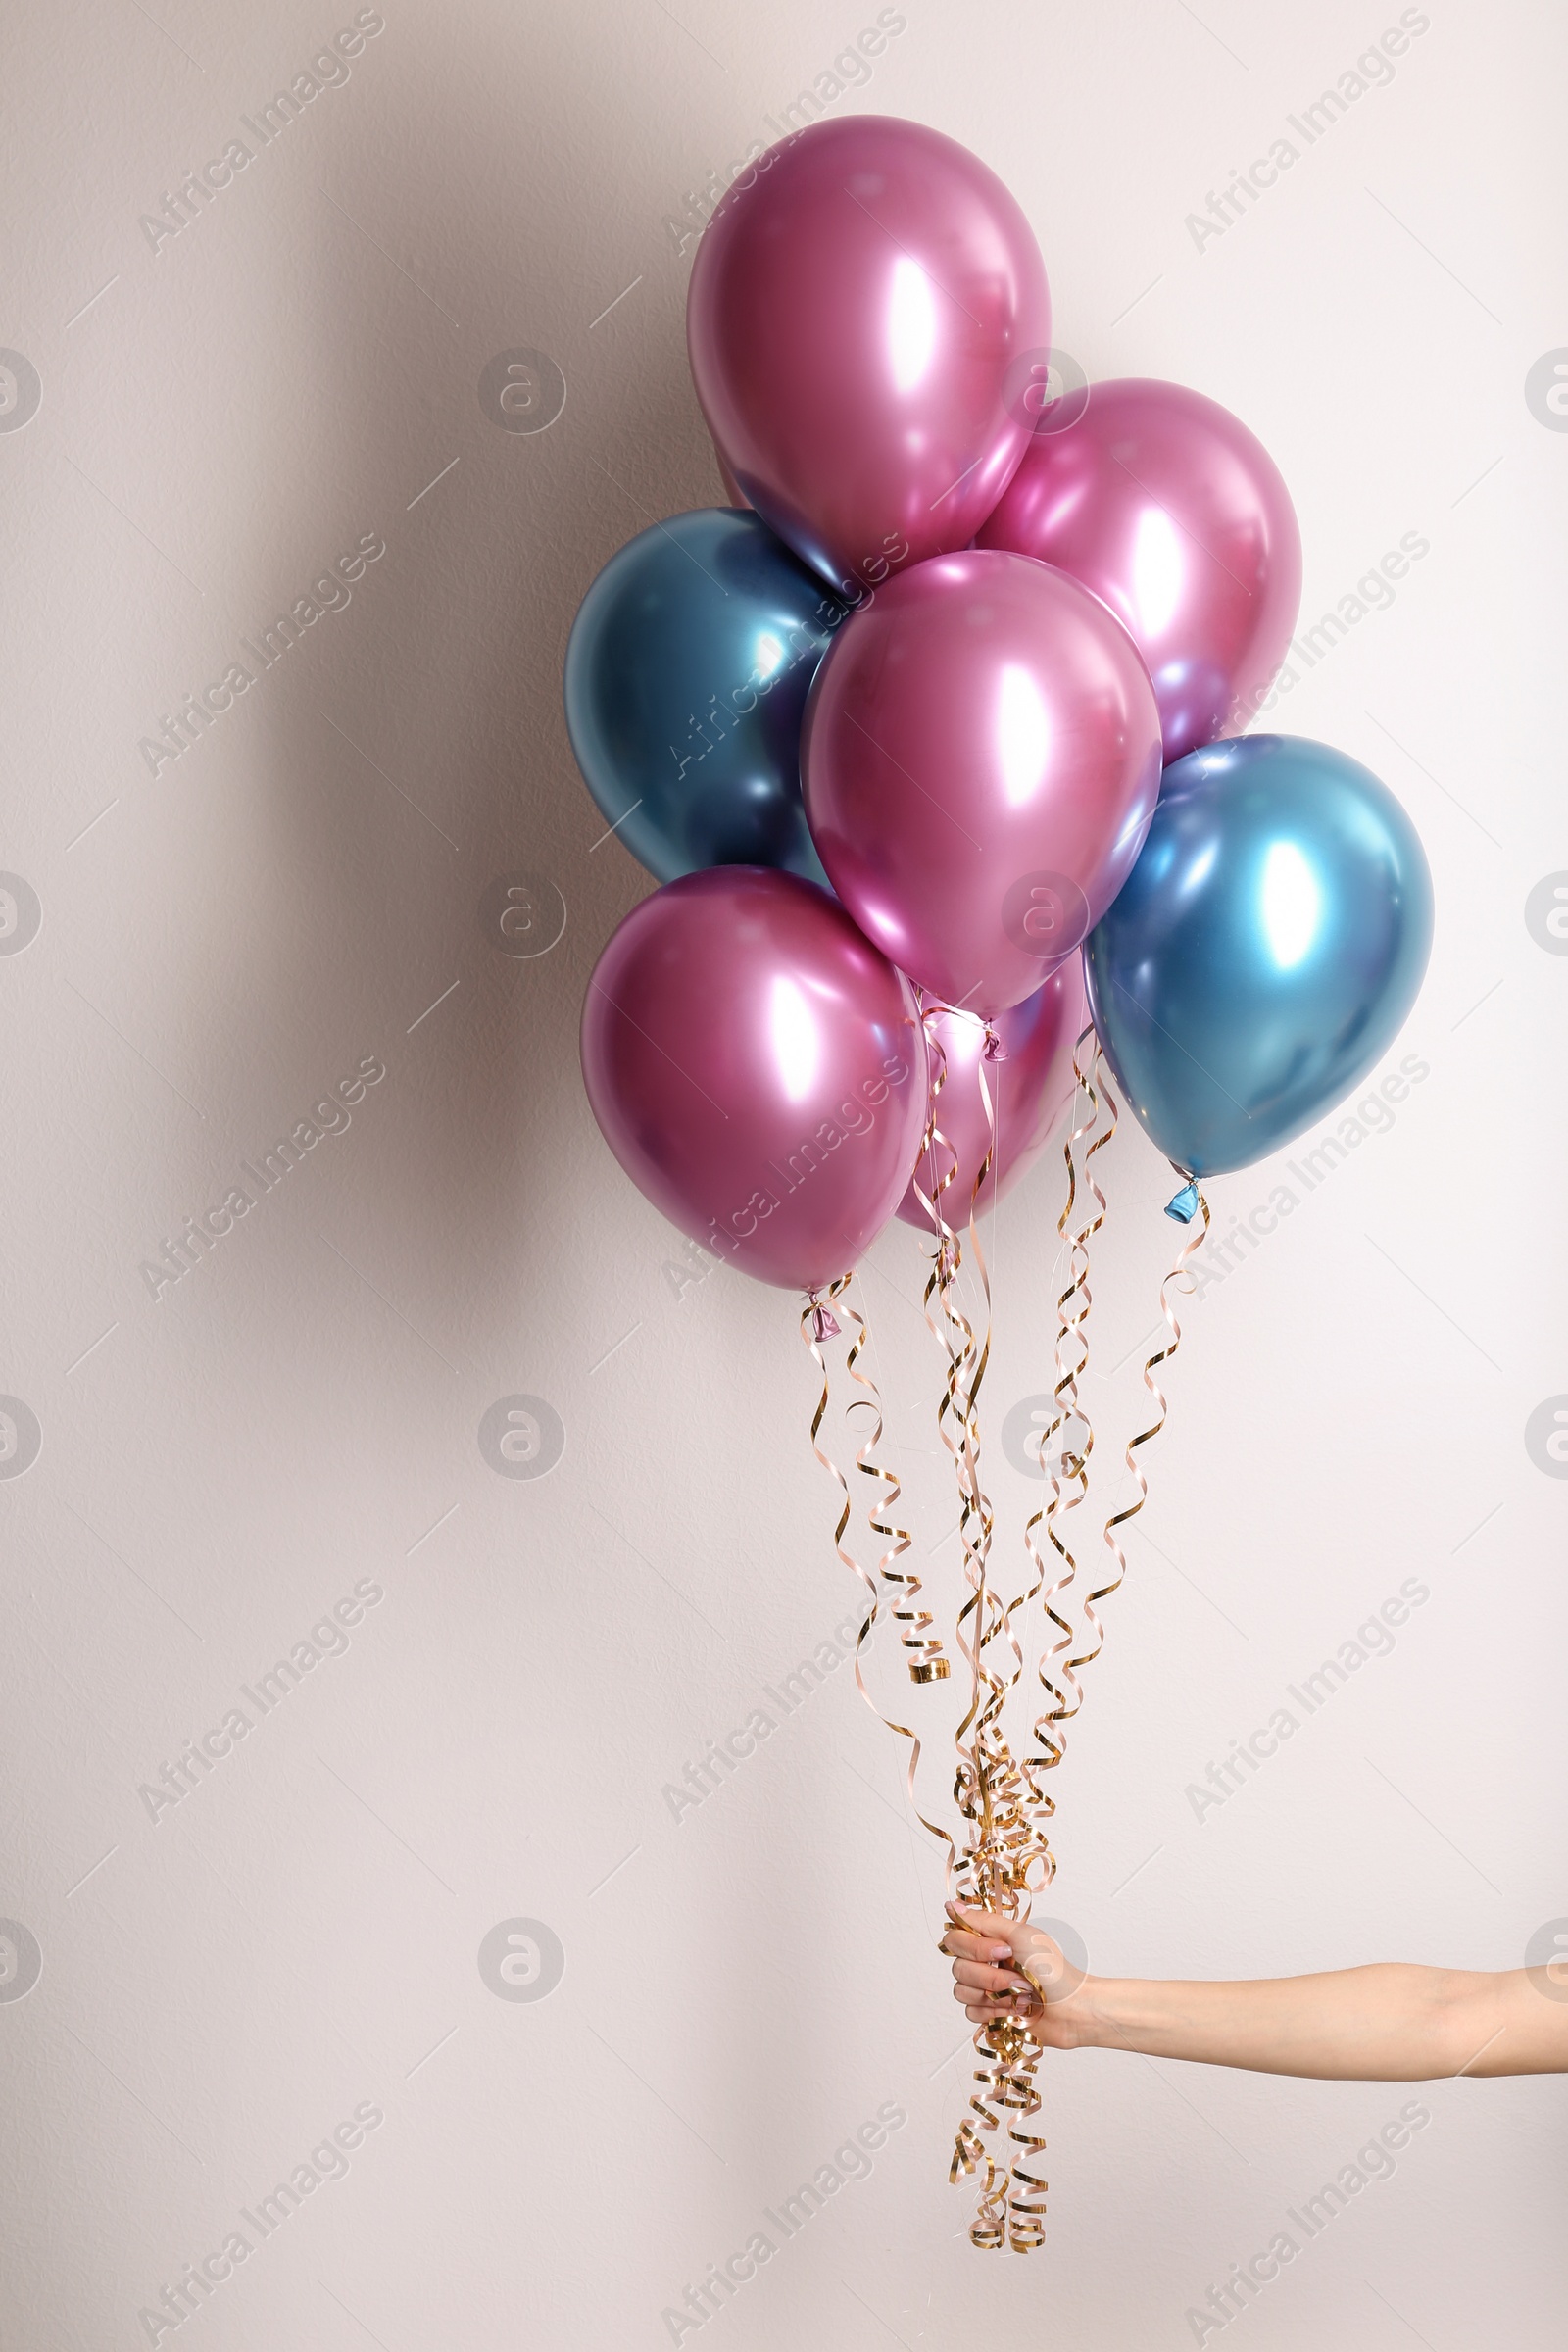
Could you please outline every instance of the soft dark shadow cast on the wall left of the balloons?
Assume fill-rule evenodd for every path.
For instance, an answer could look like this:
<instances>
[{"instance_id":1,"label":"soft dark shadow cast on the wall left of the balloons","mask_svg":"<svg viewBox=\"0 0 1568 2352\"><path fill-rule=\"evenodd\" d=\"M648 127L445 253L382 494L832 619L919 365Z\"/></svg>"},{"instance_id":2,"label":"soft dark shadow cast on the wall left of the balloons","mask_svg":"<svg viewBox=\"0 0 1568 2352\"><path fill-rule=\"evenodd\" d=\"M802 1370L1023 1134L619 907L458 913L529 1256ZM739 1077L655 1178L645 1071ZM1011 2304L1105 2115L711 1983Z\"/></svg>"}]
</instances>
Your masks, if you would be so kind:
<instances>
[{"instance_id":1,"label":"soft dark shadow cast on the wall left of the balloons","mask_svg":"<svg viewBox=\"0 0 1568 2352\"><path fill-rule=\"evenodd\" d=\"M423 1296L404 1303L437 1338L505 1357L520 1298L552 1315L583 1188L609 1176L578 1014L604 938L651 887L618 842L590 849L604 826L562 717L567 635L616 546L722 489L684 355L691 254L661 226L672 165L616 113L637 103L635 66L611 89L538 19L527 45L496 26L458 59L435 21L400 19L393 38L395 78L374 85L367 54L353 143L322 148L315 240L263 296L303 313L315 355L289 536L322 557L341 541L350 562L364 548L367 569L362 609L308 623L327 644L292 649L284 691L263 694L261 896L289 950L259 929L256 985L237 993L249 1037L214 1044L310 1037L320 1058L329 1030L346 1068L388 1061L376 1117L397 1141L367 1200L418 1237ZM564 376L545 430L503 428L494 386L480 395L517 348ZM334 595L327 576L317 602ZM564 908L534 960L501 953L480 915L510 875L543 882L548 934ZM301 1063L299 1084L334 1075Z\"/></svg>"}]
</instances>

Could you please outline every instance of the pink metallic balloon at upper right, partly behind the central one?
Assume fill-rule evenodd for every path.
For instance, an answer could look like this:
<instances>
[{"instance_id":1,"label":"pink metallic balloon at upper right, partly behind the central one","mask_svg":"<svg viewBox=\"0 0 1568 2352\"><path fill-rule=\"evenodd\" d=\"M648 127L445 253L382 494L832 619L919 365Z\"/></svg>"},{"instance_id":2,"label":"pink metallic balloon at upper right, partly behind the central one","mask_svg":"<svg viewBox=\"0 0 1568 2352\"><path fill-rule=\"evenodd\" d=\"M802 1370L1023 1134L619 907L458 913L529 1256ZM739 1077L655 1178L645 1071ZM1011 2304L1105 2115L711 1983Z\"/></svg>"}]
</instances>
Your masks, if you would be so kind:
<instances>
[{"instance_id":1,"label":"pink metallic balloon at upper right, partly behind the central one","mask_svg":"<svg viewBox=\"0 0 1568 2352\"><path fill-rule=\"evenodd\" d=\"M1166 767L1241 734L1295 628L1302 541L1279 466L1182 383L1095 383L1037 433L980 532L1105 597L1150 666Z\"/></svg>"}]
</instances>

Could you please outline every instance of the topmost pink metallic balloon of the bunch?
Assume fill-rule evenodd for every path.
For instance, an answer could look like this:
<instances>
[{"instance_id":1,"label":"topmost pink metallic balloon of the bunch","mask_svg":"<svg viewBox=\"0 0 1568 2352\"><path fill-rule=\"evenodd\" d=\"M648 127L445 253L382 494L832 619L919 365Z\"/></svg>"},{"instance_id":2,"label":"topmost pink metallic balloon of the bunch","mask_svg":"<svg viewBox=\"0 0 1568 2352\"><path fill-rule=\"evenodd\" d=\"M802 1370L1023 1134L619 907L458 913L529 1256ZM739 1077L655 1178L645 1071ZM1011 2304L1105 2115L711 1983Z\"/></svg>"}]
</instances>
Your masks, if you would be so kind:
<instances>
[{"instance_id":1,"label":"topmost pink metallic balloon of the bunch","mask_svg":"<svg viewBox=\"0 0 1568 2352\"><path fill-rule=\"evenodd\" d=\"M842 115L769 148L703 233L696 397L759 515L844 593L966 546L1030 437L1046 268L976 155Z\"/></svg>"}]
</instances>

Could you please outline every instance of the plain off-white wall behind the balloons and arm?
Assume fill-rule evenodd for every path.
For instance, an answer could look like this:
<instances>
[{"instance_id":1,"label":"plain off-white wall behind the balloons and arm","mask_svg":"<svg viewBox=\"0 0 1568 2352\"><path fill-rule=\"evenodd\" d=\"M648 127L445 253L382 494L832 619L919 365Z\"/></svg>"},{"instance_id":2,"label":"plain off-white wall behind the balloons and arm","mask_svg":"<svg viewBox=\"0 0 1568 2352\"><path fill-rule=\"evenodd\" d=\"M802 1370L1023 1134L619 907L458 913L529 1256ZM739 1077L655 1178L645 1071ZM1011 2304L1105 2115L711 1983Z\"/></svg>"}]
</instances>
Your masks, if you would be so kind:
<instances>
[{"instance_id":1,"label":"plain off-white wall behind the balloons and arm","mask_svg":"<svg viewBox=\"0 0 1568 2352\"><path fill-rule=\"evenodd\" d=\"M0 1997L7 2345L146 2343L139 2310L369 2103L346 2178L160 2343L654 2347L893 2100L870 2178L703 2343L1152 2352L1406 2098L1048 2063L1048 2246L985 2260L945 2185L940 1875L849 1675L679 1823L661 1795L853 1588L790 1301L677 1296L583 1101L585 976L649 884L592 847L559 668L609 553L717 496L665 221L875 14L386 0L350 80L158 249L139 216L350 0L12 28L0 343L42 397L19 423L7 362L0 866L42 922L12 887L0 1390L42 1451L0 1477L0 1915L42 1973ZM1526 400L1568 346L1563 24L1432 0L1394 80L1197 249L1187 212L1396 7L903 14L835 103L1004 174L1091 376L1182 379L1262 435L1307 616L1429 539L1281 710L1422 828L1439 941L1396 1051L1429 1077L1192 1308L1053 1907L1124 1973L1512 1966L1568 1912L1568 1486L1523 1442L1568 1390L1568 962L1526 922L1568 868L1568 437ZM569 388L538 435L477 395L520 346ZM353 602L150 776L160 713L362 534ZM520 870L567 910L536 960L480 917ZM348 1131L153 1301L139 1263L362 1056L386 1077ZM1173 1232L1150 1145L1110 1157L1105 1367ZM1058 1197L1053 1162L999 1218L992 1428L1048 1385ZM893 1228L867 1303L931 1541L917 1277ZM1103 1442L1135 1371L1093 1385ZM480 1451L512 1392L562 1418L543 1479ZM1016 1545L1039 1489L994 1449L992 1484ZM1197 1820L1187 1783L1403 1578L1429 1599L1396 1649ZM350 1646L148 1818L139 1788L362 1581ZM564 1947L545 1999L480 1973L517 1917ZM1255 2352L1561 2343L1563 2084L1422 2096L1396 2176L1229 2324Z\"/></svg>"}]
</instances>

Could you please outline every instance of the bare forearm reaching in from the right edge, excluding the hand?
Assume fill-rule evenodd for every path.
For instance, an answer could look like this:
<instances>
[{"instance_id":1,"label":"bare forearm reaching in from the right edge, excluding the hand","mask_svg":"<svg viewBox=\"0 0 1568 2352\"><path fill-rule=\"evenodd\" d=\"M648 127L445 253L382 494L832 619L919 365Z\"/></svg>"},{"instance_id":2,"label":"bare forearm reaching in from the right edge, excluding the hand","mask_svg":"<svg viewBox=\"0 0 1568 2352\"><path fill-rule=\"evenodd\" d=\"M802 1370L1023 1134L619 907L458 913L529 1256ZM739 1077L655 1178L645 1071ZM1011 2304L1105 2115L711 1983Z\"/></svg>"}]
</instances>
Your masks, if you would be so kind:
<instances>
[{"instance_id":1,"label":"bare forearm reaching in from the right edge, excluding the hand","mask_svg":"<svg viewBox=\"0 0 1568 2352\"><path fill-rule=\"evenodd\" d=\"M1065 2011L1084 2044L1262 2074L1429 2082L1568 2067L1568 2004L1544 1999L1523 1969L1396 1962L1218 1985L1086 1978L1058 2009L1063 2023Z\"/></svg>"}]
</instances>

